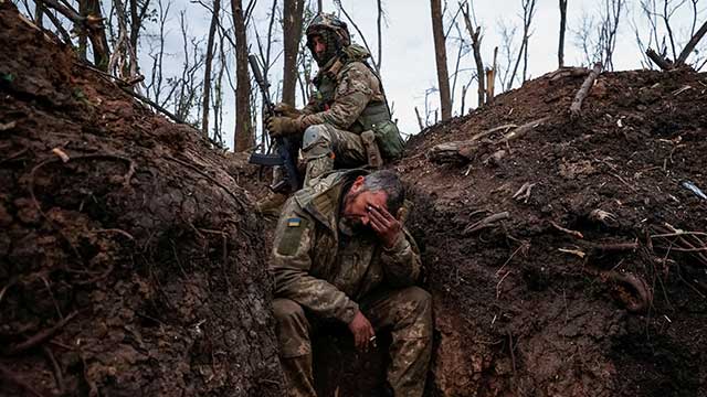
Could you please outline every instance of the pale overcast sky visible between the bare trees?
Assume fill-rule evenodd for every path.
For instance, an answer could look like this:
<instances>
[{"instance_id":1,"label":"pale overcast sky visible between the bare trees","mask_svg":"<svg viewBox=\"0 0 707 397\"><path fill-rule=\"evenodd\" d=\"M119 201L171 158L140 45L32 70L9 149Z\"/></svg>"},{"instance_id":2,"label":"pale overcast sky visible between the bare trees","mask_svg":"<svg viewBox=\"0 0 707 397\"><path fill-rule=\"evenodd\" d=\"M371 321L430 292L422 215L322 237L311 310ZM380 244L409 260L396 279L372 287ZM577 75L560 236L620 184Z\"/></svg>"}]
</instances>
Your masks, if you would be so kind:
<instances>
[{"instance_id":1,"label":"pale overcast sky visible between the bare trees","mask_svg":"<svg viewBox=\"0 0 707 397\"><path fill-rule=\"evenodd\" d=\"M19 0L17 0L19 2ZM170 0L162 0L165 3ZM202 0L211 2L210 0ZM316 7L316 0L309 0ZM568 6L568 31L566 35L566 65L582 65L585 63L582 53L578 50L576 33L583 21L589 18L598 18L601 4L605 0L569 0ZM647 0L663 3L663 0ZM672 3L685 2L685 6L673 15L672 25L675 31L677 52L682 50L689 39L689 31L693 23L692 20L692 1L693 0L669 0ZM157 0L152 0L157 2ZM222 0L225 11L222 23L231 26L230 18L230 0ZM247 0L243 0L247 3ZM278 7L282 7L283 0L278 0ZM108 9L109 0L104 0L104 7ZM377 54L377 1L376 0L341 0L344 8L349 12L354 21L361 29L366 39L371 46L373 54ZM444 0L443 0L444 3ZM500 45L499 24L502 21L506 25L520 26L521 19L521 0L476 0L473 1L476 22L483 29L482 55L486 66L492 63L493 50ZM697 19L697 28L704 23L707 18L707 0L698 0L699 17ZM272 7L272 0L257 0L254 10L254 22L249 29L249 41L251 47L255 49L254 29L258 29L261 36L266 36L268 13ZM447 1L451 12L447 12L445 19L445 29L450 23L451 14L458 9L458 1ZM23 7L20 7L23 9ZM414 107L424 111L425 92L437 86L436 68L434 57L434 46L432 39L432 21L430 17L429 0L383 0L383 9L387 14L387 25L383 28L383 61L382 61L382 81L386 87L388 99L394 107L394 118L399 120L401 130L407 133L416 133L420 128L414 112ZM205 37L209 31L210 15L203 7L188 0L171 0L170 18L168 24L167 52L170 54L166 57L166 75L177 74L181 69L183 56L181 33L179 30L179 11L187 10L187 20L189 25L189 34L197 37L203 37L202 45L205 47ZM333 0L324 0L325 12L337 12ZM344 19L344 15L341 15ZM460 25L465 39L464 24L460 19ZM282 31L275 24L278 40L282 40ZM614 52L614 66L616 71L641 68L642 55L636 45L634 26L637 26L642 35L647 37L650 32L647 20L641 13L640 0L626 0L626 10L620 22L618 33L618 44ZM664 26L661 24L661 34ZM157 31L157 26L151 24L147 28L148 33ZM354 41L361 43L360 37L352 26L350 31ZM537 12L531 26L531 37L529 42L529 65L528 72L530 78L538 77L547 72L557 68L557 47L559 31L559 11L558 0L537 0ZM518 28L516 34L516 46L520 40L521 29ZM457 36L453 31L450 36ZM147 43L146 34L144 34L144 43L141 45L141 69L143 73L149 74L150 58L147 56L149 43ZM361 43L362 44L362 43ZM699 45L703 50L701 54L707 53L707 37ZM275 52L279 51L276 45ZM205 52L205 49L204 49ZM456 60L457 44L454 40L447 41L447 63L450 74L454 71ZM499 49L499 63L502 60L502 50ZM694 55L693 55L694 56ZM282 57L281 57L282 60ZM233 61L232 61L233 62ZM467 54L461 63L461 68L474 69L474 60L472 54ZM233 65L230 66L234 72ZM279 79L278 71L282 64L273 69L271 82L275 83ZM454 114L460 111L460 93L462 84L466 84L469 74L460 76L456 88L456 98L454 104ZM149 81L149 76L147 76ZM275 86L276 84L273 84ZM515 85L517 86L517 84ZM233 142L234 126L234 107L233 92L225 83L226 98L224 115L224 130L226 131L225 141L229 146ZM496 92L499 93L499 84L496 84ZM276 100L277 98L274 98ZM432 109L439 107L439 98L431 96L430 106ZM466 96L466 107L476 106L476 84L472 84ZM297 106L303 105L302 98L298 98ZM213 120L213 117L211 118Z\"/></svg>"}]
</instances>

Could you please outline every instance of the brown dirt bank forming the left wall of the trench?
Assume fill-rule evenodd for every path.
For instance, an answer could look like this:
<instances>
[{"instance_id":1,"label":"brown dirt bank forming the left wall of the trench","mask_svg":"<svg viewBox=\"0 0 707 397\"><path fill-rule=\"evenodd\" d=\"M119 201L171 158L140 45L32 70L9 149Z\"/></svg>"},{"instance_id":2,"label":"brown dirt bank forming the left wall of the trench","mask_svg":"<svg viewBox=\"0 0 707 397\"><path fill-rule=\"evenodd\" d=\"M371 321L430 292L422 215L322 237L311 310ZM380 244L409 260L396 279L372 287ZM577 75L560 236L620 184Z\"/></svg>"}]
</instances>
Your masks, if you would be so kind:
<instances>
[{"instance_id":1,"label":"brown dirt bank forming the left wall of the trench","mask_svg":"<svg viewBox=\"0 0 707 397\"><path fill-rule=\"evenodd\" d=\"M281 396L229 160L9 2L0 42L0 395Z\"/></svg>"}]
</instances>

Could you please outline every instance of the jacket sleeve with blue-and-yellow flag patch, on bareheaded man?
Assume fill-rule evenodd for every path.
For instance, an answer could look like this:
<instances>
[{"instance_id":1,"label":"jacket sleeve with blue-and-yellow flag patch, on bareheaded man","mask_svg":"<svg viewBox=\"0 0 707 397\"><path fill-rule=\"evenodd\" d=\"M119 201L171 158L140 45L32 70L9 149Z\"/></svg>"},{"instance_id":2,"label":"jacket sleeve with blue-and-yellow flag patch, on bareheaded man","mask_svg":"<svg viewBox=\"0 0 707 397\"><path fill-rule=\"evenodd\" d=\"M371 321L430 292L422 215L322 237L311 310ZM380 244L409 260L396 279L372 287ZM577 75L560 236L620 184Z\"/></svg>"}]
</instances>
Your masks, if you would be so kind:
<instances>
[{"instance_id":1,"label":"jacket sleeve with blue-and-yellow flag patch, on bareheaded man","mask_svg":"<svg viewBox=\"0 0 707 397\"><path fill-rule=\"evenodd\" d=\"M314 242L314 219L291 197L277 222L270 262L275 296L348 324L358 312L358 304L331 283L309 273Z\"/></svg>"}]
</instances>

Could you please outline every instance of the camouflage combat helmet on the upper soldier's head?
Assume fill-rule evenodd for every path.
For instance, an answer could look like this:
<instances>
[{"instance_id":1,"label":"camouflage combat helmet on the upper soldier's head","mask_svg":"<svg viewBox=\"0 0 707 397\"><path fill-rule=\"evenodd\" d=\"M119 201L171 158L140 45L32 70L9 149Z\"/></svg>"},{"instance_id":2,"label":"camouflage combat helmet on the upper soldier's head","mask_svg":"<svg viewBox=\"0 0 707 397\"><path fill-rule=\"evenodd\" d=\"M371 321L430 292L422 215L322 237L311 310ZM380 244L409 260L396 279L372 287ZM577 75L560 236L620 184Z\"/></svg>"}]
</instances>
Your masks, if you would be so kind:
<instances>
[{"instance_id":1,"label":"camouflage combat helmet on the upper soldier's head","mask_svg":"<svg viewBox=\"0 0 707 397\"><path fill-rule=\"evenodd\" d=\"M351 44L351 36L346 22L330 13L320 12L316 14L307 26L306 35L307 47L312 51L312 54L314 54L319 66L328 63L333 57L339 54L341 49ZM320 36L327 46L326 52L320 56L320 58L318 58L314 52L314 42L312 41L312 36L314 35Z\"/></svg>"}]
</instances>

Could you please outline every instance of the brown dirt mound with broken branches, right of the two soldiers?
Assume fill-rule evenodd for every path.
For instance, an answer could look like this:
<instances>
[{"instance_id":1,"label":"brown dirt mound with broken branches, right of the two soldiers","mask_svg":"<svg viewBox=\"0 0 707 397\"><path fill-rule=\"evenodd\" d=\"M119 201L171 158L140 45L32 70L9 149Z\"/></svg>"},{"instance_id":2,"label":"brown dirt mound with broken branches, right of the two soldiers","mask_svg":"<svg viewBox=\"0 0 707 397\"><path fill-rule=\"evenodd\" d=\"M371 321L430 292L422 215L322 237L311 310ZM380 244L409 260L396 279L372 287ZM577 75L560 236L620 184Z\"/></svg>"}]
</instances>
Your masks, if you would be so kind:
<instances>
[{"instance_id":1,"label":"brown dirt mound with broken branches, right of the two soldiers","mask_svg":"<svg viewBox=\"0 0 707 397\"><path fill-rule=\"evenodd\" d=\"M707 395L707 75L604 73L572 120L582 82L528 82L397 164L432 395Z\"/></svg>"}]
</instances>

